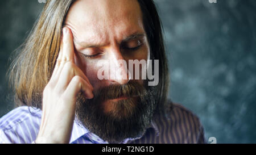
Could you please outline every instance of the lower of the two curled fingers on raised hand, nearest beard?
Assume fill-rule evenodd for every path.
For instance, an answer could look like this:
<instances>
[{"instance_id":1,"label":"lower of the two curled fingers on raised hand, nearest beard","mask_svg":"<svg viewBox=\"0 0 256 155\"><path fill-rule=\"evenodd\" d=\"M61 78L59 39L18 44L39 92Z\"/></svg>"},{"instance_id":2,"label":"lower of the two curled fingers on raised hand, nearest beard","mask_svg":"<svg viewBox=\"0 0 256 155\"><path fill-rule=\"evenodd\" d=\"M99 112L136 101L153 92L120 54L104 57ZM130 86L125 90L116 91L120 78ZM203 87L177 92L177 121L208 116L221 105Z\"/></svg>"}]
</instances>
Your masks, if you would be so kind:
<instances>
[{"instance_id":1,"label":"lower of the two curled fingers on raised hand, nearest beard","mask_svg":"<svg viewBox=\"0 0 256 155\"><path fill-rule=\"evenodd\" d=\"M89 88L89 83L86 82L83 78L79 76L75 76L72 78L71 82L69 83L67 89L64 92L64 95L67 97L73 97L69 100L71 103L76 101L76 97L80 91L84 92L85 98L91 99L93 98L92 89ZM76 103L76 102L75 102Z\"/></svg>"}]
</instances>

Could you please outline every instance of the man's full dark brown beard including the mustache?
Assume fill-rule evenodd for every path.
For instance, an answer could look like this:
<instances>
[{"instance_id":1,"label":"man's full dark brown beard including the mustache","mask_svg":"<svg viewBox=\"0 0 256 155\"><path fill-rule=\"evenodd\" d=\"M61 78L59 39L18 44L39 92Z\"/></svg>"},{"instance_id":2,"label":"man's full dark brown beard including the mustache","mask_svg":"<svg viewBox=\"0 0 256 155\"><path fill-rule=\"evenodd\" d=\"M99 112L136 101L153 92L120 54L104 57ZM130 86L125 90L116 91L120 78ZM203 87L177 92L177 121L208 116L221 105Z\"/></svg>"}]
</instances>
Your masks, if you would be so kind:
<instances>
[{"instance_id":1,"label":"man's full dark brown beard including the mustache","mask_svg":"<svg viewBox=\"0 0 256 155\"><path fill-rule=\"evenodd\" d=\"M82 93L77 97L76 116L81 125L109 143L120 143L127 138L140 137L150 126L156 103L154 87L137 81L126 85L101 87L93 99L86 99ZM120 97L114 103L106 101ZM112 104L105 110L104 104Z\"/></svg>"}]
</instances>

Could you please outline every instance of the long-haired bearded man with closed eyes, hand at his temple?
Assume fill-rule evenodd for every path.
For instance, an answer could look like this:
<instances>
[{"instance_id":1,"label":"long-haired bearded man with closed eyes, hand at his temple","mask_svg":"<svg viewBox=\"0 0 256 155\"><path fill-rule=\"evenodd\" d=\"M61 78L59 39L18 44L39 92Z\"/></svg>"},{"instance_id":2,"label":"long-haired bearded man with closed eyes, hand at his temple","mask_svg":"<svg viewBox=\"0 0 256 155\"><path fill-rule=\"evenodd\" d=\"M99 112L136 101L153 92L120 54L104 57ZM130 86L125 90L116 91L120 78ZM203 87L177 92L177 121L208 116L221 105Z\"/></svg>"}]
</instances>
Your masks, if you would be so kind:
<instances>
[{"instance_id":1,"label":"long-haired bearded man with closed eyes, hand at his temple","mask_svg":"<svg viewBox=\"0 0 256 155\"><path fill-rule=\"evenodd\" d=\"M47 1L10 79L19 107L0 119L1 143L204 143L199 119L166 100L152 1Z\"/></svg>"}]
</instances>

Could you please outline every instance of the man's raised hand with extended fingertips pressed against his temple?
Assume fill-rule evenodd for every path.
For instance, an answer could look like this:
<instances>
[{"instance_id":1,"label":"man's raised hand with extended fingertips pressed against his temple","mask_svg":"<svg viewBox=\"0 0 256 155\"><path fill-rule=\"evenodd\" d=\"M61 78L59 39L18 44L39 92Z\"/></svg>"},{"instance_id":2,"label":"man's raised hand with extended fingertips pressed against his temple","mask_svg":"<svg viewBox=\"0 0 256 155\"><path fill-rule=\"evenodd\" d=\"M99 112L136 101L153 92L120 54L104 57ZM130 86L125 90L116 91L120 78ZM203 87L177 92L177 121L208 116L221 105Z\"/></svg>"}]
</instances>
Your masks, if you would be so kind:
<instances>
[{"instance_id":1,"label":"man's raised hand with extended fingertips pressed against his temple","mask_svg":"<svg viewBox=\"0 0 256 155\"><path fill-rule=\"evenodd\" d=\"M42 120L35 143L69 143L80 91L93 98L93 87L75 65L73 36L63 28L63 39L52 77L43 91Z\"/></svg>"}]
</instances>

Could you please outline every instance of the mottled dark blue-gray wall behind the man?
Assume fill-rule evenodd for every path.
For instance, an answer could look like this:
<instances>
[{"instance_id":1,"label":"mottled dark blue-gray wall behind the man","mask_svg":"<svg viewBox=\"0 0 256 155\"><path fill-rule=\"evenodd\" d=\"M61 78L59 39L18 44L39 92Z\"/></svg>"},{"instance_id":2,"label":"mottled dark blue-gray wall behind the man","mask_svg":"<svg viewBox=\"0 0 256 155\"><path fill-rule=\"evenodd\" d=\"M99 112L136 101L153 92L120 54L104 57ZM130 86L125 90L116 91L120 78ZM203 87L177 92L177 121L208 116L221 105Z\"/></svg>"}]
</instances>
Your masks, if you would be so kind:
<instances>
[{"instance_id":1,"label":"mottled dark blue-gray wall behind the man","mask_svg":"<svg viewBox=\"0 0 256 155\"><path fill-rule=\"evenodd\" d=\"M217 143L256 143L256 1L156 0L162 18L169 97L199 116ZM0 1L0 116L9 102L8 58L42 10L37 0Z\"/></svg>"}]
</instances>

